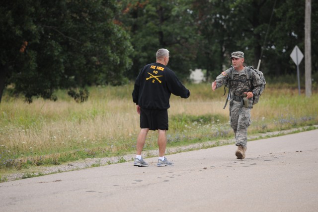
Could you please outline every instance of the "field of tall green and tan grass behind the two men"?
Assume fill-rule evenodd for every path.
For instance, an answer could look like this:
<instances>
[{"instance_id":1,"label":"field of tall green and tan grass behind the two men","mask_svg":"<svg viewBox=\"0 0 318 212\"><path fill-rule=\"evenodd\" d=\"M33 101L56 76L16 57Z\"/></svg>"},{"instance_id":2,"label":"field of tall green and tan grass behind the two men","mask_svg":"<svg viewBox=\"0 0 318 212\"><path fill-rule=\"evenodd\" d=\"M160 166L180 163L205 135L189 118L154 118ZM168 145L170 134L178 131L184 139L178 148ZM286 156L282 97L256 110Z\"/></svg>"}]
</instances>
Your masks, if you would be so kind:
<instances>
[{"instance_id":1,"label":"field of tall green and tan grass behind the two men","mask_svg":"<svg viewBox=\"0 0 318 212\"><path fill-rule=\"evenodd\" d=\"M233 136L224 90L210 84L188 84L189 99L172 96L168 146ZM82 104L57 91L58 101L32 104L5 95L0 105L0 169L59 164L80 158L122 155L135 151L139 114L132 102L133 85L92 87ZM297 89L267 86L252 109L248 133L318 123L318 94L299 96ZM151 131L145 149L157 148Z\"/></svg>"}]
</instances>

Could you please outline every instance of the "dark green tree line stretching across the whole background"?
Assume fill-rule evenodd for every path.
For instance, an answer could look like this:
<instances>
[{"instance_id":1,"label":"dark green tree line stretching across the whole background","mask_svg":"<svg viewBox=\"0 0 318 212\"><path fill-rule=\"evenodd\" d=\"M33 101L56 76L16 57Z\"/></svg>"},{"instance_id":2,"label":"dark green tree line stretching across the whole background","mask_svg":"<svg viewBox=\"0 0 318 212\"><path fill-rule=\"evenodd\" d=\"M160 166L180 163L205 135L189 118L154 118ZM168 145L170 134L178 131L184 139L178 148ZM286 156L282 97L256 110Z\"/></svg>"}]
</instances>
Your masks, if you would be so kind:
<instances>
[{"instance_id":1,"label":"dark green tree line stretching across the whole background","mask_svg":"<svg viewBox=\"0 0 318 212\"><path fill-rule=\"evenodd\" d=\"M317 9L312 1L313 76ZM304 16L299 0L2 0L0 100L8 84L29 102L58 88L121 85L159 48L183 79L194 68L215 78L233 51L245 53L246 65L261 59L266 75L292 74L291 51L305 50Z\"/></svg>"}]
</instances>

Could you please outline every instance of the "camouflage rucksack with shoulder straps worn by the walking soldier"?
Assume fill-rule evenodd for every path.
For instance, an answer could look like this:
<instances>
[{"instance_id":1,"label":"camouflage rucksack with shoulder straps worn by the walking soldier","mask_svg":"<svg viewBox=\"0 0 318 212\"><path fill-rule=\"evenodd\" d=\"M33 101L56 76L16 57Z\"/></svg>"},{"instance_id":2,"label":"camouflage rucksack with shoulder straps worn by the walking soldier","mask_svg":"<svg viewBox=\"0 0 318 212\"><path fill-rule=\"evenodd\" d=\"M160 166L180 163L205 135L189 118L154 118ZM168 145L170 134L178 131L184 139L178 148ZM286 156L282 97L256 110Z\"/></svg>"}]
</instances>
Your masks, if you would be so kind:
<instances>
[{"instance_id":1,"label":"camouflage rucksack with shoulder straps worn by the walking soldier","mask_svg":"<svg viewBox=\"0 0 318 212\"><path fill-rule=\"evenodd\" d=\"M258 69L254 69L252 66L247 66L249 69L248 69L248 75L247 75L247 79L244 80L243 82L246 82L248 81L249 83L249 87L251 88L251 90L254 89L253 87L253 84L252 84L252 72L254 71L260 78L260 80L263 82L263 85L261 86L261 89L259 90L258 94L255 94L253 96L253 105L257 104L258 101L259 101L259 98L260 96L262 95L264 89L265 89L265 85L266 85L266 81L265 81L265 77L264 77L264 74L263 72L259 71ZM234 71L234 67L231 66L230 67L230 72L229 72L229 80L228 80L228 84L225 85L226 87L229 88L229 94L228 94L228 97L227 97L227 102L225 103L225 106L224 108L227 106L227 103L228 103L228 99L230 97L230 90L231 90L231 81L236 81L236 80L233 80L233 71ZM225 95L225 87L224 87L224 95Z\"/></svg>"}]
</instances>

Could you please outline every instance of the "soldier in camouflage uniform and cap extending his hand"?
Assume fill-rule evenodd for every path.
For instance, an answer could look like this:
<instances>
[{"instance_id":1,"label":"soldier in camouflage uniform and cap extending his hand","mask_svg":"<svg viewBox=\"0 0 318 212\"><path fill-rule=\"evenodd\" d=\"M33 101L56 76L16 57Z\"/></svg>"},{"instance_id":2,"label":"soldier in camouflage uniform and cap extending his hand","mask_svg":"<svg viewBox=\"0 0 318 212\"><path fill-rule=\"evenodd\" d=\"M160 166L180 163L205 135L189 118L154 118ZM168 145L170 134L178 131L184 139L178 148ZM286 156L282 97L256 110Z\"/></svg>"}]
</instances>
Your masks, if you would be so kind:
<instances>
[{"instance_id":1,"label":"soldier in camouflage uniform and cap extending his hand","mask_svg":"<svg viewBox=\"0 0 318 212\"><path fill-rule=\"evenodd\" d=\"M253 96L259 92L263 82L254 71L243 66L243 52L233 52L231 59L233 67L217 77L212 83L212 90L215 91L230 81L230 123L235 133L236 146L238 146L235 154L238 159L244 159L247 148L247 127L251 123L250 109L253 104ZM252 71L250 81L248 80L249 71ZM229 75L233 78L230 79Z\"/></svg>"}]
</instances>

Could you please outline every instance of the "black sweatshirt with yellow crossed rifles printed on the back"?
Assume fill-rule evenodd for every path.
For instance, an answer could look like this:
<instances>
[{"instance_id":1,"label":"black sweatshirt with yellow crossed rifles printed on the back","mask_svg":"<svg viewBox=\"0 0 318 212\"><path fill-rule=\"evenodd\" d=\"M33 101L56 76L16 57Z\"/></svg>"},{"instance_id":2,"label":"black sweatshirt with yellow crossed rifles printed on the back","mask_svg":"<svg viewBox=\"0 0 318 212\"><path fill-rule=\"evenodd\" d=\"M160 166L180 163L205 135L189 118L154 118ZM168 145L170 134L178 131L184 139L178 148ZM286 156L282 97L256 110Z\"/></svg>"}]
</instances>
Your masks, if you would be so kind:
<instances>
[{"instance_id":1,"label":"black sweatshirt with yellow crossed rifles printed on the back","mask_svg":"<svg viewBox=\"0 0 318 212\"><path fill-rule=\"evenodd\" d=\"M171 93L181 98L190 96L172 70L161 63L152 63L140 71L132 95L141 108L167 109Z\"/></svg>"}]
</instances>

